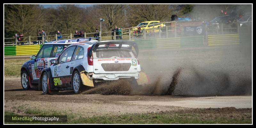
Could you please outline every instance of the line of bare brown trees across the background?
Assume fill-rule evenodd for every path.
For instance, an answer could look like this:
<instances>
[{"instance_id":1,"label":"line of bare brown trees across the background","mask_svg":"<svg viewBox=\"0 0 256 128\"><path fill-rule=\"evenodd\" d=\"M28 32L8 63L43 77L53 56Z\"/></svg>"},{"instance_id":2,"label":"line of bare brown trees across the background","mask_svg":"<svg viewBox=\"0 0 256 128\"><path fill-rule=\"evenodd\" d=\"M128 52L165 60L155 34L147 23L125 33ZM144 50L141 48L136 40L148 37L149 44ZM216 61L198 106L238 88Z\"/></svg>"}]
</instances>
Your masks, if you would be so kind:
<instances>
[{"instance_id":1,"label":"line of bare brown trees across the background","mask_svg":"<svg viewBox=\"0 0 256 128\"><path fill-rule=\"evenodd\" d=\"M203 6L205 9L200 8ZM237 5L225 5L226 8L234 6ZM100 30L100 18L105 19L102 31L110 31L114 26L128 28L144 21L171 21L172 15L216 15L220 8L224 8L224 5L96 4L82 8L73 4L61 4L56 8L43 8L39 4L4 4L4 37L13 37L15 33L36 36L42 29L47 35L56 34L57 30L63 34L74 33L75 30L95 32L95 29Z\"/></svg>"}]
</instances>

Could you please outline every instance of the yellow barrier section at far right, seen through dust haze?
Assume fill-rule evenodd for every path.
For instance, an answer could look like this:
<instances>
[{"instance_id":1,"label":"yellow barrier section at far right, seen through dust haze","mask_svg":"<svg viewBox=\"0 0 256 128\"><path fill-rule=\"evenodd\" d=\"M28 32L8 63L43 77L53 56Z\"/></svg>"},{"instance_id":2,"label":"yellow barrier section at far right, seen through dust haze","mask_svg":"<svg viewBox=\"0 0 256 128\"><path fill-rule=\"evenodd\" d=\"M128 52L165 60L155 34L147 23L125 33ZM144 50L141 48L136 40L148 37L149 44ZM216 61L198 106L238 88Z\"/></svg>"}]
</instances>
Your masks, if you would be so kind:
<instances>
[{"instance_id":1,"label":"yellow barrier section at far right, seen through dust haze","mask_svg":"<svg viewBox=\"0 0 256 128\"><path fill-rule=\"evenodd\" d=\"M239 34L208 35L208 45L240 44Z\"/></svg>"}]
</instances>

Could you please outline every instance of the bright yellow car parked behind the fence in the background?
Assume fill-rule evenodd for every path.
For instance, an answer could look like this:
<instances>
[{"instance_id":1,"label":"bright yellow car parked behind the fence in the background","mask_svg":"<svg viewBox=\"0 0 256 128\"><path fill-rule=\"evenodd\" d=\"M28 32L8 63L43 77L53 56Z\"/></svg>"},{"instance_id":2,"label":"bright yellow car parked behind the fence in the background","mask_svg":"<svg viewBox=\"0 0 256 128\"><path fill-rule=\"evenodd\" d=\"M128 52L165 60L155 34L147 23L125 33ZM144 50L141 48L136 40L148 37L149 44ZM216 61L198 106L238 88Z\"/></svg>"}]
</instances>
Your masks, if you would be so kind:
<instances>
[{"instance_id":1,"label":"bright yellow car parked behind the fence in the background","mask_svg":"<svg viewBox=\"0 0 256 128\"><path fill-rule=\"evenodd\" d=\"M155 27L154 27L154 23L155 23ZM138 27L140 26L140 29L143 30L142 25L144 24L144 29L146 30L146 32L158 32L159 29L158 27L164 27L164 24L159 24L160 21L145 21L145 22L141 22L140 24L137 25L136 28L132 29L132 33L136 30L138 30Z\"/></svg>"}]
</instances>

